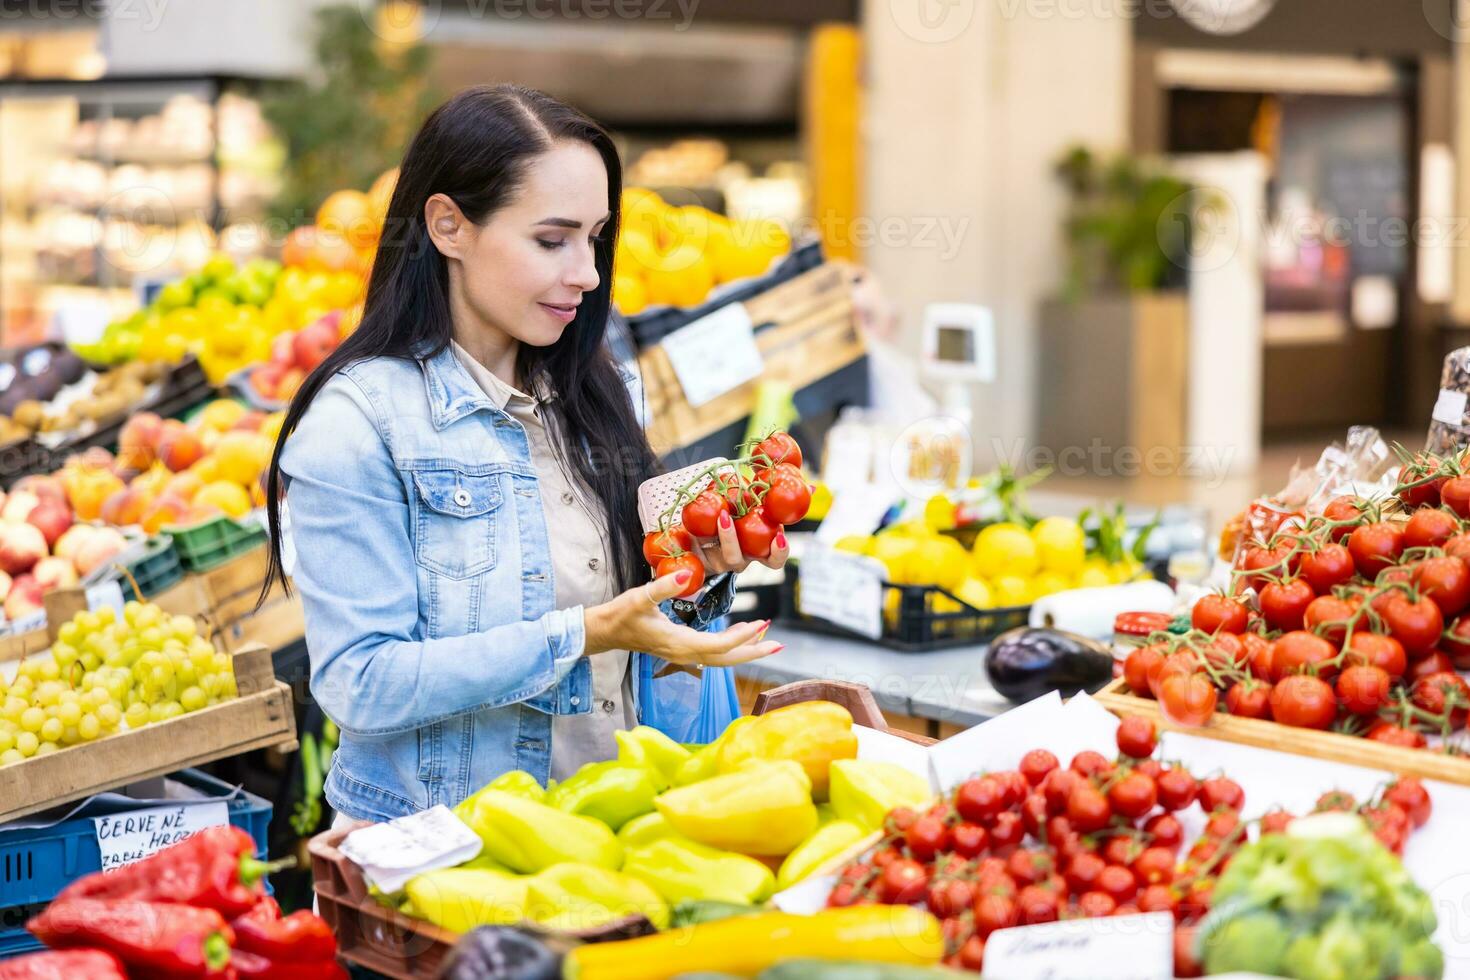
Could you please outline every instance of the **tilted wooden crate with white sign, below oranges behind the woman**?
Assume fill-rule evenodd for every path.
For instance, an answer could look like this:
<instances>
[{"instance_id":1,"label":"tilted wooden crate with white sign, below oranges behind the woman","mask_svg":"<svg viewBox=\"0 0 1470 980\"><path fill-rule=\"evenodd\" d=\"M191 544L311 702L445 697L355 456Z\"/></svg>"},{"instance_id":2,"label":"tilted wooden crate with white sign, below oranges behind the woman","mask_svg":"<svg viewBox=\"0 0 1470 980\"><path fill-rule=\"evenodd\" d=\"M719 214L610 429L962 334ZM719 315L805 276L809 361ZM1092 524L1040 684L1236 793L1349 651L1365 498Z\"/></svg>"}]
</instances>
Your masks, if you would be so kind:
<instances>
[{"instance_id":1,"label":"tilted wooden crate with white sign, below oranges behind the woman","mask_svg":"<svg viewBox=\"0 0 1470 980\"><path fill-rule=\"evenodd\" d=\"M669 453L734 425L756 404L756 386L776 381L792 391L847 367L866 353L853 316L853 267L828 262L747 300L764 373L703 406L691 406L663 345L638 356L648 400L648 441ZM764 328L764 329L761 329ZM719 357L711 351L710 357Z\"/></svg>"}]
</instances>

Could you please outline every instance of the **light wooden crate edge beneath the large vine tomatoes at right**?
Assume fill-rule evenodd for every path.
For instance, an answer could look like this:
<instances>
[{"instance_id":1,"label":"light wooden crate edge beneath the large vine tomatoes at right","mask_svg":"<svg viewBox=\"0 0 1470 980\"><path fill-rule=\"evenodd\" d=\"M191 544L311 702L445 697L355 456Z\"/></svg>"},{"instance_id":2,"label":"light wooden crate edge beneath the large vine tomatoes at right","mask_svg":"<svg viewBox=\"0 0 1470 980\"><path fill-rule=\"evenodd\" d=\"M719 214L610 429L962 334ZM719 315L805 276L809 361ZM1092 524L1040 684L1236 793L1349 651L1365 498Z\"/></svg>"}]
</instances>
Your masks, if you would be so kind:
<instances>
[{"instance_id":1,"label":"light wooden crate edge beneath the large vine tomatoes at right","mask_svg":"<svg viewBox=\"0 0 1470 980\"><path fill-rule=\"evenodd\" d=\"M1114 679L1092 696L1113 714L1138 714L1152 718L1163 730L1185 732L1201 738L1220 739L1222 742L1254 745L1295 755L1311 755L1313 758L1330 763L1382 768L1399 776L1419 776L1420 779L1438 779L1445 783L1470 786L1470 758L1467 757L1370 742L1355 735L1297 729L1289 724L1261 721L1258 718L1238 718L1225 713L1216 713L1204 727L1189 729L1166 720L1158 710L1158 702L1152 698L1139 698L1130 693L1122 677Z\"/></svg>"}]
</instances>

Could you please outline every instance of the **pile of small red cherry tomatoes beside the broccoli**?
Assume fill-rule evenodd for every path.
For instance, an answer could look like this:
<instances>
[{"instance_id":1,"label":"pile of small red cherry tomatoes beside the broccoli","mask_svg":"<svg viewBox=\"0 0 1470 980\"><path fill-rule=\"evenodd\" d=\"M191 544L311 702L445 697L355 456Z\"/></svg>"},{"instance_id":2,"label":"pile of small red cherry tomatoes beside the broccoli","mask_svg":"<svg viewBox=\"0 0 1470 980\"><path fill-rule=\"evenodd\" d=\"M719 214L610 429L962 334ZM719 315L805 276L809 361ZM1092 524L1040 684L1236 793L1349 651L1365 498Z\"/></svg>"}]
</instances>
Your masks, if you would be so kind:
<instances>
[{"instance_id":1,"label":"pile of small red cherry tomatoes beside the broccoli","mask_svg":"<svg viewBox=\"0 0 1470 980\"><path fill-rule=\"evenodd\" d=\"M1154 758L1154 723L1126 717L1119 755L1078 752L1061 768L1032 749L1016 770L961 783L925 813L888 814L875 851L842 868L828 905L925 905L939 918L945 962L980 970L998 929L1170 912L1176 976L1200 976L1192 926L1210 909L1214 882L1248 839L1280 833L1295 818L1273 811L1242 821L1245 790L1225 776L1197 779ZM1204 832L1185 849L1182 811L1200 807ZM1369 804L1324 793L1317 810L1361 813L1386 846L1402 851L1429 820L1429 793L1402 779Z\"/></svg>"}]
</instances>

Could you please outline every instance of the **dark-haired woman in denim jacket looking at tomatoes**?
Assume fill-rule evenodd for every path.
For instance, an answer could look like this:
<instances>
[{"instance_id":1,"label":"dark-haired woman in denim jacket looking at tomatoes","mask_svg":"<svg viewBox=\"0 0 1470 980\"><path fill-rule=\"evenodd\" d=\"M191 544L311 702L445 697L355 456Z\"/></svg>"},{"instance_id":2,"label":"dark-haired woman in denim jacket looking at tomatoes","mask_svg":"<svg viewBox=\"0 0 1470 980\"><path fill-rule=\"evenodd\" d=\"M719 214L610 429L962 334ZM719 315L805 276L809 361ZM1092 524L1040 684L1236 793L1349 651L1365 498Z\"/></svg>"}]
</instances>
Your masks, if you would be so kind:
<instances>
[{"instance_id":1,"label":"dark-haired woman in denim jacket looking at tomatoes","mask_svg":"<svg viewBox=\"0 0 1470 980\"><path fill-rule=\"evenodd\" d=\"M686 577L648 582L637 491L657 464L603 347L620 192L612 141L576 110L509 85L456 96L403 159L362 325L291 403L272 573L284 489L312 693L343 730L340 814L612 757L666 683L629 651L779 649L766 623L676 624L660 605ZM745 564L732 527L697 551L711 573ZM785 557L782 536L766 564Z\"/></svg>"}]
</instances>

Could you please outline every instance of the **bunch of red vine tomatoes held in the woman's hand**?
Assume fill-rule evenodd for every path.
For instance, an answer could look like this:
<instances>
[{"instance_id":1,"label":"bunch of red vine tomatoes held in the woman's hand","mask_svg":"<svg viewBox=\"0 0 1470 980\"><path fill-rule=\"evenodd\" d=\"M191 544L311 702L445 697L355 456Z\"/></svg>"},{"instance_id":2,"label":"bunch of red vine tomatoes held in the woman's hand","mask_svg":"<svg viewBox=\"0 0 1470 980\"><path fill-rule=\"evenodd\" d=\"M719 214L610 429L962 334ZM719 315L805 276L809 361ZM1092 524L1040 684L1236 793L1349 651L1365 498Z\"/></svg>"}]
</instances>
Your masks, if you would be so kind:
<instances>
[{"instance_id":1,"label":"bunch of red vine tomatoes held in the woman's hand","mask_svg":"<svg viewBox=\"0 0 1470 980\"><path fill-rule=\"evenodd\" d=\"M748 476L744 467L750 467ZM704 588L695 538L717 538L722 527L734 525L745 557L769 558L782 527L806 517L811 507L811 486L801 475L801 447L785 432L772 432L750 455L711 467L691 486L706 476L709 486L692 500L681 494L660 516L660 530L644 535L644 558L656 577L689 573L689 583L679 592L684 598Z\"/></svg>"}]
</instances>

